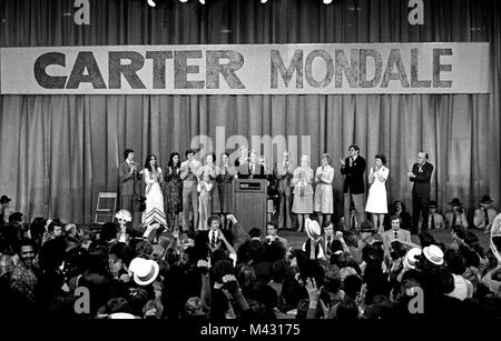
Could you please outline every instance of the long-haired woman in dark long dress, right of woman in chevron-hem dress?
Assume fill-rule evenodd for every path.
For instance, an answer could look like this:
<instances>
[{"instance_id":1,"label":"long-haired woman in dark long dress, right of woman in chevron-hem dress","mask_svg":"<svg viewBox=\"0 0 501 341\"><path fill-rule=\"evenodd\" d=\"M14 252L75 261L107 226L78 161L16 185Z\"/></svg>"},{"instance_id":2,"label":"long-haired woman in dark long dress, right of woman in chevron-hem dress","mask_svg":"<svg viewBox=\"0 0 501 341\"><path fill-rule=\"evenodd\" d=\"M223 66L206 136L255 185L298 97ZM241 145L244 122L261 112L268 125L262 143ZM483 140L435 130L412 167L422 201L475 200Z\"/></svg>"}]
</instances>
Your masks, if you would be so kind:
<instances>
[{"instance_id":1,"label":"long-haired woman in dark long dress, right of woman in chevron-hem dress","mask_svg":"<svg viewBox=\"0 0 501 341\"><path fill-rule=\"evenodd\" d=\"M179 224L179 213L183 212L183 180L180 178L180 157L178 152L170 153L165 172L165 210L170 228Z\"/></svg>"}]
</instances>

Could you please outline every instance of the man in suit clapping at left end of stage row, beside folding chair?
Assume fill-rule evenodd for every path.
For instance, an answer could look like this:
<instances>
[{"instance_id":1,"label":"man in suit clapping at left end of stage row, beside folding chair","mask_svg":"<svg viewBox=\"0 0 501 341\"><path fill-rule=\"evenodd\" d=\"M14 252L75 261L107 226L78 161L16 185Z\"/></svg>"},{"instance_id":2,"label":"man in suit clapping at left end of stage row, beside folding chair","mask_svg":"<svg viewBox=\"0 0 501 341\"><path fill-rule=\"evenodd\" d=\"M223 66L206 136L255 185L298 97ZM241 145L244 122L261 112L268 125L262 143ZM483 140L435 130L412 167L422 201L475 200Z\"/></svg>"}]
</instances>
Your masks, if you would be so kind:
<instances>
[{"instance_id":1,"label":"man in suit clapping at left end of stage row, beside folding chair","mask_svg":"<svg viewBox=\"0 0 501 341\"><path fill-rule=\"evenodd\" d=\"M120 177L120 208L129 211L130 214L134 213L134 188L138 177L137 167L138 164L134 162L134 150L126 149L124 162L118 168Z\"/></svg>"}]
</instances>

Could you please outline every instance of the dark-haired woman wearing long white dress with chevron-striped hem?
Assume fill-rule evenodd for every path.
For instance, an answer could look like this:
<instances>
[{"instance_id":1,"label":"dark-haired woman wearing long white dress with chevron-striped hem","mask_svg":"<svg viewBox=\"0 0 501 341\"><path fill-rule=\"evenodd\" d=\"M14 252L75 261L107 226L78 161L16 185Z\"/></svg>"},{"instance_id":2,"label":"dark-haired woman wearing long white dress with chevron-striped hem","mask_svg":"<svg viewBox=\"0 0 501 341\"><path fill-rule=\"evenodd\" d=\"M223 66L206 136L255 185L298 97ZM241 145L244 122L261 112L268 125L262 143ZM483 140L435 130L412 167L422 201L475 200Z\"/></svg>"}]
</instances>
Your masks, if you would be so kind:
<instances>
[{"instance_id":1,"label":"dark-haired woman wearing long white dress with chevron-striped hem","mask_svg":"<svg viewBox=\"0 0 501 341\"><path fill-rule=\"evenodd\" d=\"M146 210L143 212L143 227L159 223L167 227L164 211L164 194L160 184L164 181L161 168L158 167L157 157L149 154L146 158L145 169L140 172L145 180Z\"/></svg>"}]
</instances>

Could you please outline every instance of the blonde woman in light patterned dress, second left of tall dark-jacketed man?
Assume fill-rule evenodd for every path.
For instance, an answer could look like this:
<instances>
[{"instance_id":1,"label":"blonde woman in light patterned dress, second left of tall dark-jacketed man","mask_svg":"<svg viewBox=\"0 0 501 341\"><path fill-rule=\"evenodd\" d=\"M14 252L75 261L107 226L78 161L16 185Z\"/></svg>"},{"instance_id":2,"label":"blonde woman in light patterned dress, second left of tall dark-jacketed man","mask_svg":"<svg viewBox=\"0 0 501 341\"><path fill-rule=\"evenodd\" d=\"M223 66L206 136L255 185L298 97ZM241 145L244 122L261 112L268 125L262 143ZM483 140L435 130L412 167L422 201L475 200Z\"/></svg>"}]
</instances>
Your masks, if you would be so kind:
<instances>
[{"instance_id":1,"label":"blonde woman in light patterned dress, second left of tall dark-jacketed man","mask_svg":"<svg viewBox=\"0 0 501 341\"><path fill-rule=\"evenodd\" d=\"M303 231L304 221L313 213L313 169L310 158L301 157L301 166L294 170L291 185L294 187L293 213L297 214L298 229Z\"/></svg>"}]
</instances>

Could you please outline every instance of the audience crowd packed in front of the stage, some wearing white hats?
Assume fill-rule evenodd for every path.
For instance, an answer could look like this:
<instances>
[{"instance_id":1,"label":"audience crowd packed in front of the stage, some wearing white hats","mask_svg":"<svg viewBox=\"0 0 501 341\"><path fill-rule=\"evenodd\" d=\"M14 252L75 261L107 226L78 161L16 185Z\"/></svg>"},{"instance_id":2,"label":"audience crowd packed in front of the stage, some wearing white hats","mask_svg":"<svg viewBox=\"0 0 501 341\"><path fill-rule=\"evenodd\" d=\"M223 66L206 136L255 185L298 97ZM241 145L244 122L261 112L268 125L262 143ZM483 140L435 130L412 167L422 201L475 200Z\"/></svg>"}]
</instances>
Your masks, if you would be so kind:
<instances>
[{"instance_id":1,"label":"audience crowd packed in front of the stage, some wearing white hats","mask_svg":"<svg viewBox=\"0 0 501 341\"><path fill-rule=\"evenodd\" d=\"M11 318L501 317L501 214L490 249L460 224L452 243L426 231L413 243L397 215L382 235L370 221L348 231L306 219L295 249L276 224L247 233L232 214L196 233L134 228L127 210L98 231L18 215L0 230L0 311Z\"/></svg>"}]
</instances>

